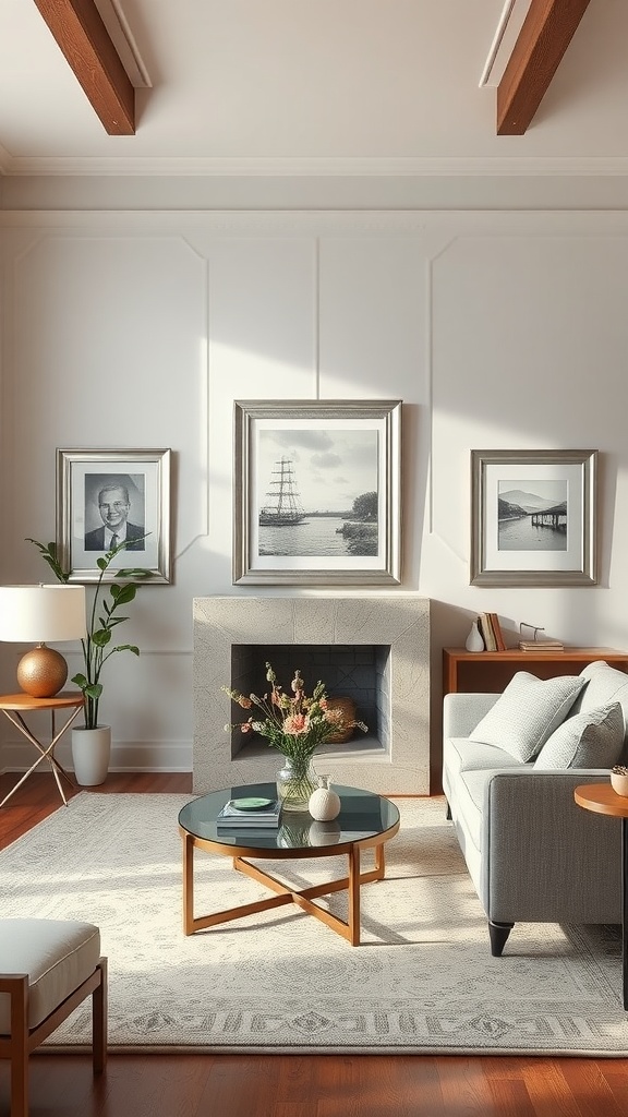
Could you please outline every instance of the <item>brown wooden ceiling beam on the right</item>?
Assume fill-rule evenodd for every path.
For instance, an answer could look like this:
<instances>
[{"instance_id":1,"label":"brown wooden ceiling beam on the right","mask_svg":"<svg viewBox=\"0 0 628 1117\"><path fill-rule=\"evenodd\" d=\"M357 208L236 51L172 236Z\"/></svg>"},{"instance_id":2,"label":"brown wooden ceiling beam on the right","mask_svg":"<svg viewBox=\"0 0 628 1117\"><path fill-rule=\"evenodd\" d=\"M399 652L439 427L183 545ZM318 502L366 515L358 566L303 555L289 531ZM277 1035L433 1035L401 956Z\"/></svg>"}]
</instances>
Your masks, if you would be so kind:
<instances>
[{"instance_id":1,"label":"brown wooden ceiling beam on the right","mask_svg":"<svg viewBox=\"0 0 628 1117\"><path fill-rule=\"evenodd\" d=\"M497 86L497 135L531 124L590 0L532 0Z\"/></svg>"}]
</instances>

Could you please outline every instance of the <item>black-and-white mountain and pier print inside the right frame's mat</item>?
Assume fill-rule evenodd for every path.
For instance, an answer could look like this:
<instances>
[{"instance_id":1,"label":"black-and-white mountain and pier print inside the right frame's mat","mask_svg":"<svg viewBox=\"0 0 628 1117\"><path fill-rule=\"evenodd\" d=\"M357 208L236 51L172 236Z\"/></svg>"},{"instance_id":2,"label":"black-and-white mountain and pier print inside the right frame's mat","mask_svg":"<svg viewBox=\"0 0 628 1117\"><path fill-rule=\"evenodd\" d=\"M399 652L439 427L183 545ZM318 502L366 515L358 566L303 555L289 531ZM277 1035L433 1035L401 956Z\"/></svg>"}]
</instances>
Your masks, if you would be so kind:
<instances>
[{"instance_id":1,"label":"black-and-white mountain and pier print inside the right frame's mat","mask_svg":"<svg viewBox=\"0 0 628 1117\"><path fill-rule=\"evenodd\" d=\"M499 480L498 551L567 551L568 483Z\"/></svg>"}]
</instances>

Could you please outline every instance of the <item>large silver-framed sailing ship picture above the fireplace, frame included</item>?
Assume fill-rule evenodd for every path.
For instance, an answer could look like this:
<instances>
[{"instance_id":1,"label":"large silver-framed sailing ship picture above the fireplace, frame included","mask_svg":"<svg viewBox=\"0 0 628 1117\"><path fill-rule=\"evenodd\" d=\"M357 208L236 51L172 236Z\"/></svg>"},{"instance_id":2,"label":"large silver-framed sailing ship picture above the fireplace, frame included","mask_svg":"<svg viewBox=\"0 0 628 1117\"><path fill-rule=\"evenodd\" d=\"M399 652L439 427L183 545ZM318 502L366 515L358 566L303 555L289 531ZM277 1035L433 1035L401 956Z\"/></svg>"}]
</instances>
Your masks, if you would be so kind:
<instances>
[{"instance_id":1,"label":"large silver-framed sailing ship picture above the fireplace, frame included","mask_svg":"<svg viewBox=\"0 0 628 1117\"><path fill-rule=\"evenodd\" d=\"M399 583L400 454L400 400L236 400L234 584Z\"/></svg>"}]
</instances>

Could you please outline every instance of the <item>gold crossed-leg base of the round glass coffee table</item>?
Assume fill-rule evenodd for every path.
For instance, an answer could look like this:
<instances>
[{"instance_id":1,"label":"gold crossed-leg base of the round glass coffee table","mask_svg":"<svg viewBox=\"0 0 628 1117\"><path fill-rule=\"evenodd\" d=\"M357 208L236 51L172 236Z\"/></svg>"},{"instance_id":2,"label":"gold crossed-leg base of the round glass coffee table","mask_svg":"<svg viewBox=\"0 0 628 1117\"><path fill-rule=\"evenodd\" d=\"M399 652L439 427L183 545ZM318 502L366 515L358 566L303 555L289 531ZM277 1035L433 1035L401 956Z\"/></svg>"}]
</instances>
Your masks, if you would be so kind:
<instances>
[{"instance_id":1,"label":"gold crossed-leg base of the round glass coffee table","mask_svg":"<svg viewBox=\"0 0 628 1117\"><path fill-rule=\"evenodd\" d=\"M383 842L391 837L390 834L381 836L381 841L377 843L373 840L369 842L369 847L374 850L375 865L373 869L367 872L360 871L359 844L352 844L345 851L330 849L326 855L329 857L339 857L343 852L346 852L349 876L342 877L339 880L313 885L310 888L293 889L284 881L277 880L269 872L265 872L263 869L257 868L257 866L251 865L245 858L234 857L232 863L235 869L265 885L277 895L269 896L267 899L255 900L251 904L241 904L234 908L227 908L223 911L216 911L212 915L194 916L194 847L199 846L206 849L208 847L202 840L196 839L193 834L188 833L185 830L180 828L180 831L183 840L183 930L185 935L193 935L197 930L206 930L208 927L216 927L218 924L229 923L231 919L241 919L247 915L256 915L258 911L268 911L270 908L283 907L285 904L296 904L308 915L313 915L321 923L335 930L337 935L345 938L352 946L360 945L360 887L372 880L383 879L386 871ZM222 849L227 851L227 847L222 847ZM211 852L213 851L219 852L220 848L213 846ZM293 851L293 859L295 852ZM260 860L264 860L261 851L257 856ZM343 889L346 889L349 892L349 919L346 922L331 911L326 911L317 904L312 903L317 896L330 896L332 892L339 892Z\"/></svg>"}]
</instances>

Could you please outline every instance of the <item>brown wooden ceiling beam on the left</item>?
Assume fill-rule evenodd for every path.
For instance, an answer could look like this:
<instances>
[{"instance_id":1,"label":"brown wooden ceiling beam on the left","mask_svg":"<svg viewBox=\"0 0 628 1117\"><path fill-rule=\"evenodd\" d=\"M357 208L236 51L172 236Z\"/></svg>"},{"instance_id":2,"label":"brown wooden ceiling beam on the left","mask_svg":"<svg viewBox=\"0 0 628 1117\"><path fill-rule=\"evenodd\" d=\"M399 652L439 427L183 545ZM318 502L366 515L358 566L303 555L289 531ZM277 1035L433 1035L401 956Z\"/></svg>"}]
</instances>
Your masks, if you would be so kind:
<instances>
[{"instance_id":1,"label":"brown wooden ceiling beam on the left","mask_svg":"<svg viewBox=\"0 0 628 1117\"><path fill-rule=\"evenodd\" d=\"M111 136L135 134L135 89L94 0L35 0Z\"/></svg>"}]
</instances>

